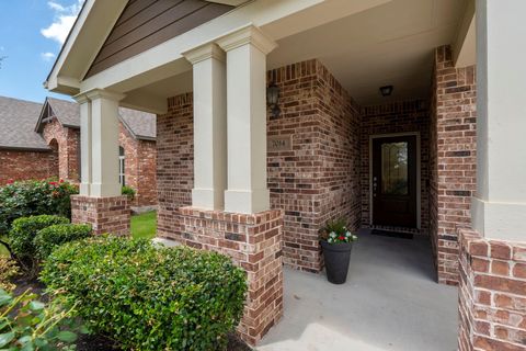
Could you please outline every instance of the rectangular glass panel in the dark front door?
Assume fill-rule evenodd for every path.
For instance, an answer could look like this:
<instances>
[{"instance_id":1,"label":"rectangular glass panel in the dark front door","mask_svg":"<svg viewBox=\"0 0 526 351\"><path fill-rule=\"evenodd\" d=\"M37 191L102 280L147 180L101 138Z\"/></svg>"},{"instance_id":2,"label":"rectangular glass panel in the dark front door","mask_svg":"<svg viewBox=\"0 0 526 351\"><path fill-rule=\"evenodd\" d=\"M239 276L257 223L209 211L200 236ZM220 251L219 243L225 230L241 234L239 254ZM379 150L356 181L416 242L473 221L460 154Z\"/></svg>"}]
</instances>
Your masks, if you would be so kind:
<instances>
[{"instance_id":1,"label":"rectangular glass panel in the dark front door","mask_svg":"<svg viewBox=\"0 0 526 351\"><path fill-rule=\"evenodd\" d=\"M381 193L408 195L408 143L381 145Z\"/></svg>"}]
</instances>

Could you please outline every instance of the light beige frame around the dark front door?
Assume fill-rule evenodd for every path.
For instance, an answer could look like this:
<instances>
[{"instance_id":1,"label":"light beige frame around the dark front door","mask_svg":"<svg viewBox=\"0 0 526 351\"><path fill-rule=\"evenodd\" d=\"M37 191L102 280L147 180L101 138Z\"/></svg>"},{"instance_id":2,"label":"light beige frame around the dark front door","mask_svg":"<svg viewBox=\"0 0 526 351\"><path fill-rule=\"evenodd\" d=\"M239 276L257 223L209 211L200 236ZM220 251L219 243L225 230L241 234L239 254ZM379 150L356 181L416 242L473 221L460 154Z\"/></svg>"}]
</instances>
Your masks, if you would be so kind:
<instances>
[{"instance_id":1,"label":"light beige frame around the dark front door","mask_svg":"<svg viewBox=\"0 0 526 351\"><path fill-rule=\"evenodd\" d=\"M421 169L421 145L420 132L407 133L388 133L369 135L369 226L373 226L373 141L380 138L389 138L397 136L414 136L416 137L416 229L422 227L422 169Z\"/></svg>"}]
</instances>

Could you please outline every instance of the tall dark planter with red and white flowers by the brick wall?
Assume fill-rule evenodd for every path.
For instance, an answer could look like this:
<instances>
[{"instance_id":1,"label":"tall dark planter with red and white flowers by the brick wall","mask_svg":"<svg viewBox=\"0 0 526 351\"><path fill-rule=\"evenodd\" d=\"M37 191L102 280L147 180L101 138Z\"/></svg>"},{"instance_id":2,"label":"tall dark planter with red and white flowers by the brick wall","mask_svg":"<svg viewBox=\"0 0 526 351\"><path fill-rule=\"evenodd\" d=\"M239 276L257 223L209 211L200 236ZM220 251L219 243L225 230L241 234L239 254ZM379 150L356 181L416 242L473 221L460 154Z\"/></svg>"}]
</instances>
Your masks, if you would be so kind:
<instances>
[{"instance_id":1,"label":"tall dark planter with red and white flowers by the brick wall","mask_svg":"<svg viewBox=\"0 0 526 351\"><path fill-rule=\"evenodd\" d=\"M343 284L347 279L353 241L358 238L346 226L344 218L328 220L320 229L320 244L325 260L327 279L333 284Z\"/></svg>"}]
</instances>

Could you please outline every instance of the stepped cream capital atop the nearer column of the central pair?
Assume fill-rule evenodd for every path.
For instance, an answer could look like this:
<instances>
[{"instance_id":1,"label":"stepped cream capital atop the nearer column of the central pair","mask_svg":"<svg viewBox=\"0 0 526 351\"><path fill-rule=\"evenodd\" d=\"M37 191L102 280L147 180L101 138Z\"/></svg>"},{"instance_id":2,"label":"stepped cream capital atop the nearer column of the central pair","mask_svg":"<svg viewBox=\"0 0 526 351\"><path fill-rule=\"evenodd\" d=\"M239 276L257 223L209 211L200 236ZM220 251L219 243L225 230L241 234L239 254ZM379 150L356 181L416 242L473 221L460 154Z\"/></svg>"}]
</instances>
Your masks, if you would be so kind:
<instances>
[{"instance_id":1,"label":"stepped cream capital atop the nearer column of the central pair","mask_svg":"<svg viewBox=\"0 0 526 351\"><path fill-rule=\"evenodd\" d=\"M277 47L277 44L271 37L266 36L259 27L252 24L230 32L217 39L216 43L225 52L229 52L247 44L252 44L265 55Z\"/></svg>"}]
</instances>

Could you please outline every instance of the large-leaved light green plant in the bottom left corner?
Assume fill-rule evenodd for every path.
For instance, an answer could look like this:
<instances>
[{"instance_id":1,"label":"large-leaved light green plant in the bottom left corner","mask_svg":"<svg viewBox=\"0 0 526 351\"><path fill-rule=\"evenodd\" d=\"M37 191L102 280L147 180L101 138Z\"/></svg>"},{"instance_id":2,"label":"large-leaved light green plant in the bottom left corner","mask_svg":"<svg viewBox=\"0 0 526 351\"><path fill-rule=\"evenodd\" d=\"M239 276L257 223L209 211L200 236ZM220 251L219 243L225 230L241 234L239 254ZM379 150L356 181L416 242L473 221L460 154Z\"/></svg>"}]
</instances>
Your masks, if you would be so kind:
<instances>
[{"instance_id":1,"label":"large-leaved light green plant in the bottom left corner","mask_svg":"<svg viewBox=\"0 0 526 351\"><path fill-rule=\"evenodd\" d=\"M13 297L0 290L0 349L9 351L75 350L76 331L87 332L57 299L46 305L27 291Z\"/></svg>"}]
</instances>

